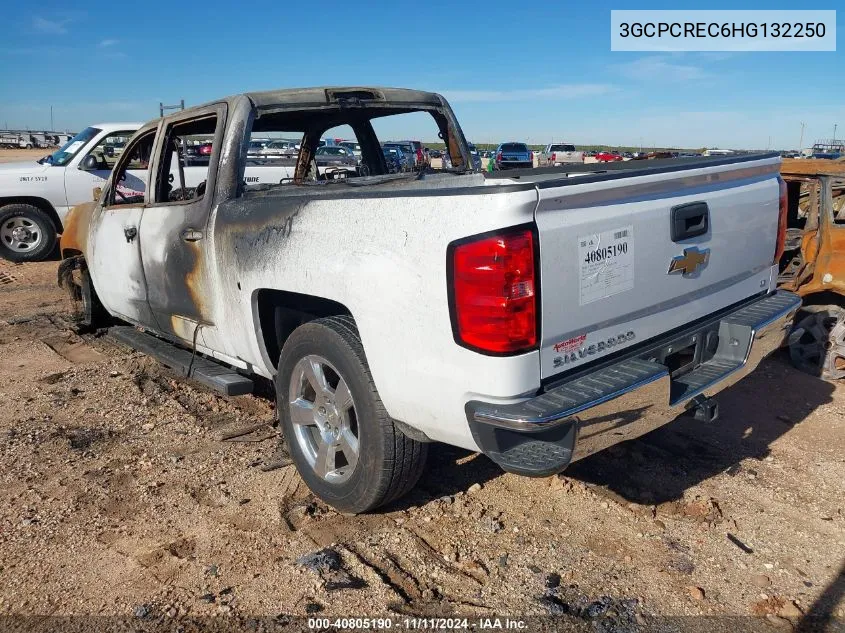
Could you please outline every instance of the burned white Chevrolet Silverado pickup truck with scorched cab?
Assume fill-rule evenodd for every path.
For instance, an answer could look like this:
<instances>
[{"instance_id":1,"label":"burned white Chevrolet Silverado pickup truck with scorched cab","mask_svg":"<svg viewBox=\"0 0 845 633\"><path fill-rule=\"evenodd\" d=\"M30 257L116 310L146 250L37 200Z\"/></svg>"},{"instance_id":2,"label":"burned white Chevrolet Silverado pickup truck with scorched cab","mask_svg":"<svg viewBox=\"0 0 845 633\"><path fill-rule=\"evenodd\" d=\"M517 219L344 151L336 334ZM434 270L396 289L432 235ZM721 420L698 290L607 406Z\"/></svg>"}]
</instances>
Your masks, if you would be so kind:
<instances>
[{"instance_id":1,"label":"burned white Chevrolet Silverado pickup truck with scorched cab","mask_svg":"<svg viewBox=\"0 0 845 633\"><path fill-rule=\"evenodd\" d=\"M408 115L451 168L389 173L377 130ZM245 182L250 138L274 132L302 137L292 176ZM324 134L354 134L357 177L317 169ZM213 138L194 187L185 135ZM123 155L65 222L86 321L130 324L114 335L224 393L274 380L296 467L347 512L412 488L431 441L542 476L713 420L799 306L775 290L773 154L479 173L441 96L313 88L172 114ZM127 195L139 155L148 186Z\"/></svg>"}]
</instances>

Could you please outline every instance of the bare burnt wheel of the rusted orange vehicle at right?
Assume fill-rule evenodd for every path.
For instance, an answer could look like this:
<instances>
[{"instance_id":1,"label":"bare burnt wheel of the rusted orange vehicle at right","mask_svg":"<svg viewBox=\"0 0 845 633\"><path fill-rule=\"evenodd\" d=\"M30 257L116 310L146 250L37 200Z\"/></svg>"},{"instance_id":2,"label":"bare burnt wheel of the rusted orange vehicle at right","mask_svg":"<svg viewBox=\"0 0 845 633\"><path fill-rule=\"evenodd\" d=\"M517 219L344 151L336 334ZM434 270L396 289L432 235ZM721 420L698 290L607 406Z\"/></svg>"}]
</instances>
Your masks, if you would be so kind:
<instances>
[{"instance_id":1,"label":"bare burnt wheel of the rusted orange vehicle at right","mask_svg":"<svg viewBox=\"0 0 845 633\"><path fill-rule=\"evenodd\" d=\"M803 330L789 346L796 367L828 379L845 378L845 312L809 314L795 329Z\"/></svg>"}]
</instances>

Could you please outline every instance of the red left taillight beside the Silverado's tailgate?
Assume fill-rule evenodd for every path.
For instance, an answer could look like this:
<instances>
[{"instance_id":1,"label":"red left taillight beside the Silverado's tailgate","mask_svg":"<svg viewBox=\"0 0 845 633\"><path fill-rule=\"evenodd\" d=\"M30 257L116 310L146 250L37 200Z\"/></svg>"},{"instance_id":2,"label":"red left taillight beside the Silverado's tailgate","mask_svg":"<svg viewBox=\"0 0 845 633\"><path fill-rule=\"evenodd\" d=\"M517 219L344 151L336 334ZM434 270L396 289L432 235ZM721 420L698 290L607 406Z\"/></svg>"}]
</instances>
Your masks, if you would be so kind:
<instances>
[{"instance_id":1,"label":"red left taillight beside the Silverado's tailgate","mask_svg":"<svg viewBox=\"0 0 845 633\"><path fill-rule=\"evenodd\" d=\"M537 345L534 236L484 237L452 250L453 323L458 341L494 354Z\"/></svg>"}]
</instances>

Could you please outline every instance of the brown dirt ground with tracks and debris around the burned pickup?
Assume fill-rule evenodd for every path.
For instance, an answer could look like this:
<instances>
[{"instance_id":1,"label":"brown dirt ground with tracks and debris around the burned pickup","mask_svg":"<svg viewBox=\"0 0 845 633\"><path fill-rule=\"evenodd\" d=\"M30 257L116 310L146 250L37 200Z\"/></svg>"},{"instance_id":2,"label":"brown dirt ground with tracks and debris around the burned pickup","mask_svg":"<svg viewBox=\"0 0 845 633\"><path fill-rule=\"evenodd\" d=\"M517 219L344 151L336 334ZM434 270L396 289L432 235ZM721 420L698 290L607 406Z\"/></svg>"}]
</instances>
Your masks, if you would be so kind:
<instances>
[{"instance_id":1,"label":"brown dirt ground with tracks and debris around the burned pickup","mask_svg":"<svg viewBox=\"0 0 845 633\"><path fill-rule=\"evenodd\" d=\"M56 266L0 260L0 616L845 617L845 388L783 356L714 424L545 479L434 445L409 497L352 517L267 470L269 400L77 335Z\"/></svg>"}]
</instances>

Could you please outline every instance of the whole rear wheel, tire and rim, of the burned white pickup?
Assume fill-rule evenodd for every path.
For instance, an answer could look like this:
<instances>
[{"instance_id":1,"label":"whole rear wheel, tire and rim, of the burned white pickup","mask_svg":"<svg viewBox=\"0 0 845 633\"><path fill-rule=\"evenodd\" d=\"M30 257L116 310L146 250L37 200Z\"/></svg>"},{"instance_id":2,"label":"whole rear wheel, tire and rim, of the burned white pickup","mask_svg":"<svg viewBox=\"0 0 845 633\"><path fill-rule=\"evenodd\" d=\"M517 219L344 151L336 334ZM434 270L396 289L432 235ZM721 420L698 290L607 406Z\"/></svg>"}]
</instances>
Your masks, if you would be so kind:
<instances>
[{"instance_id":1,"label":"whole rear wheel, tire and rim, of the burned white pickup","mask_svg":"<svg viewBox=\"0 0 845 633\"><path fill-rule=\"evenodd\" d=\"M299 474L337 510L373 510L419 480L428 446L385 411L351 317L317 319L291 334L279 358L276 403Z\"/></svg>"}]
</instances>

